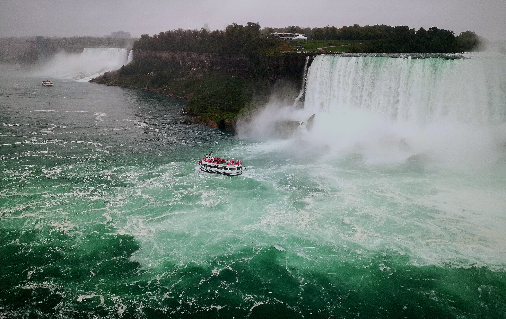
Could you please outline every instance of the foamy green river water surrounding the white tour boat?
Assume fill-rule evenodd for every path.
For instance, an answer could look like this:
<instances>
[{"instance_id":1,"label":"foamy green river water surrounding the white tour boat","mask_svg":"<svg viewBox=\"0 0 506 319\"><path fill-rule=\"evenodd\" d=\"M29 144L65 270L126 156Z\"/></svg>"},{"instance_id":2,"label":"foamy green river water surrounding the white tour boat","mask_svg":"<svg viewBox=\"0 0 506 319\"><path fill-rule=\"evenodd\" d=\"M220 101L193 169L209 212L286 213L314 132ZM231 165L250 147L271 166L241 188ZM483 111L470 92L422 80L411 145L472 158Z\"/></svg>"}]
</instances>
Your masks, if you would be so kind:
<instances>
[{"instance_id":1,"label":"foamy green river water surrounding the white tour boat","mask_svg":"<svg viewBox=\"0 0 506 319\"><path fill-rule=\"evenodd\" d=\"M175 99L40 80L2 70L3 317L506 315L503 165L301 152L180 125ZM198 172L208 151L245 173Z\"/></svg>"}]
</instances>

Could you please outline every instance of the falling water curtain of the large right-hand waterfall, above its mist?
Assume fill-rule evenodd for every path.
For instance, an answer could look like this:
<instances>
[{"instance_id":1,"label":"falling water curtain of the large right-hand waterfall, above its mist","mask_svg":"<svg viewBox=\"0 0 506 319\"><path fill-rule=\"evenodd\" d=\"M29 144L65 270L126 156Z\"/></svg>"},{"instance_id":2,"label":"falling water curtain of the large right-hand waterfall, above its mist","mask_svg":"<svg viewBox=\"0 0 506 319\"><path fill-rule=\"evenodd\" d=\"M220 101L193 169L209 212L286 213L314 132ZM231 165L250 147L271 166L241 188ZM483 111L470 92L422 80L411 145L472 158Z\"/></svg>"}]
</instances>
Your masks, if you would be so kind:
<instances>
[{"instance_id":1,"label":"falling water curtain of the large right-hand waterfall, above its mist","mask_svg":"<svg viewBox=\"0 0 506 319\"><path fill-rule=\"evenodd\" d=\"M506 121L506 59L316 57L305 108L356 109L427 124Z\"/></svg>"}]
</instances>

